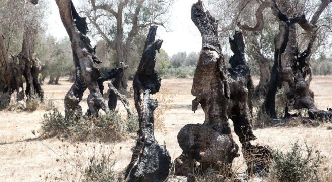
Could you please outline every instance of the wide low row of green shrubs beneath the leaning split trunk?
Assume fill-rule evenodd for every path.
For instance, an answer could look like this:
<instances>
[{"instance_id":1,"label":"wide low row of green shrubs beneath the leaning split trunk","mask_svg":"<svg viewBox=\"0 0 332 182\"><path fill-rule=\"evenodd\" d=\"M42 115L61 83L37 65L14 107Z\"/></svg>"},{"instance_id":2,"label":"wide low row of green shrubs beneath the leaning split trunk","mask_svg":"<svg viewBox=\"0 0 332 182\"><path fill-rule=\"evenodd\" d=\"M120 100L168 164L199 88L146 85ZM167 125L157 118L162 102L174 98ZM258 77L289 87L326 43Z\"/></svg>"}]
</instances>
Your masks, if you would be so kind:
<instances>
[{"instance_id":1,"label":"wide low row of green shrubs beneath the leaning split trunk","mask_svg":"<svg viewBox=\"0 0 332 182\"><path fill-rule=\"evenodd\" d=\"M77 119L71 114L63 117L54 109L44 114L41 129L45 134L61 135L72 140L86 141L97 138L102 141L117 141L122 140L126 133L134 132L138 128L138 119L134 118L137 117L132 116L124 120L116 111L111 111L99 118L83 116Z\"/></svg>"}]
</instances>

